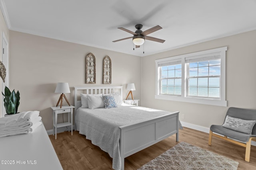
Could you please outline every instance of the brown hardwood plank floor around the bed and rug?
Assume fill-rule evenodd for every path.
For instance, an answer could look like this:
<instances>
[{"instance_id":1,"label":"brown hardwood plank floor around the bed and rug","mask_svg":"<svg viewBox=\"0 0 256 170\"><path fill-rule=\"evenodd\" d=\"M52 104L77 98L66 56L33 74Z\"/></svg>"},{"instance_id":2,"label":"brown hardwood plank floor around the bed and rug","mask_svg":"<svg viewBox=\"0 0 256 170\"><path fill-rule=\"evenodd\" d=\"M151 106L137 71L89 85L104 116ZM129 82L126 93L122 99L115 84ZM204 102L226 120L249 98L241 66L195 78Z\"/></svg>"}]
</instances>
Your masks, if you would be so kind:
<instances>
[{"instance_id":1,"label":"brown hardwood plank floor around the bed and rug","mask_svg":"<svg viewBox=\"0 0 256 170\"><path fill-rule=\"evenodd\" d=\"M57 139L50 135L52 145L64 170L112 170L112 158L93 145L84 135L74 131L58 133ZM208 133L189 128L180 130L180 142L184 141L202 149L210 150L239 162L238 170L256 169L256 147L251 147L250 162L244 161L245 148L213 137L212 146L208 146ZM125 170L136 170L150 160L176 145L176 137L156 143L136 154L125 158Z\"/></svg>"}]
</instances>

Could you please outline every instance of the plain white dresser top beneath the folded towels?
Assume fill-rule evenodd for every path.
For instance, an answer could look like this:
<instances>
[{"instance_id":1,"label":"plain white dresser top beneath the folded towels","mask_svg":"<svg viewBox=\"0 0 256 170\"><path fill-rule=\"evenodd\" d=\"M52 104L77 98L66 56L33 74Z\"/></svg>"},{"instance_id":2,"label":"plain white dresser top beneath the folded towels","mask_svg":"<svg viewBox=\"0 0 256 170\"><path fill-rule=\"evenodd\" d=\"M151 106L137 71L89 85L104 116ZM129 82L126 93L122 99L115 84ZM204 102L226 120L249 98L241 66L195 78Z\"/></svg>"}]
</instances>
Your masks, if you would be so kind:
<instances>
[{"instance_id":1,"label":"plain white dresser top beneath the folded towels","mask_svg":"<svg viewBox=\"0 0 256 170\"><path fill-rule=\"evenodd\" d=\"M29 134L0 138L0 170L62 170L44 125Z\"/></svg>"}]
</instances>

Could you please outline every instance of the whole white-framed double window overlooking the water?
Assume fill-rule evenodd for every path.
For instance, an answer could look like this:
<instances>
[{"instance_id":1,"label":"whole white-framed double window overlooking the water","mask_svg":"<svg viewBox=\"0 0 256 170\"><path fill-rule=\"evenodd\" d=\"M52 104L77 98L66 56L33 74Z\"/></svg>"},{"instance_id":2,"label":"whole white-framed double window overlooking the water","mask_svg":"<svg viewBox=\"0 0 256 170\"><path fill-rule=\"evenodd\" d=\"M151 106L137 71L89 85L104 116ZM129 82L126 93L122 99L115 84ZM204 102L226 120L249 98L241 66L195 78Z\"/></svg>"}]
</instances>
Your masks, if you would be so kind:
<instances>
[{"instance_id":1,"label":"whole white-framed double window overlooking the water","mask_svg":"<svg viewBox=\"0 0 256 170\"><path fill-rule=\"evenodd\" d=\"M226 50L156 60L155 98L226 106Z\"/></svg>"}]
</instances>

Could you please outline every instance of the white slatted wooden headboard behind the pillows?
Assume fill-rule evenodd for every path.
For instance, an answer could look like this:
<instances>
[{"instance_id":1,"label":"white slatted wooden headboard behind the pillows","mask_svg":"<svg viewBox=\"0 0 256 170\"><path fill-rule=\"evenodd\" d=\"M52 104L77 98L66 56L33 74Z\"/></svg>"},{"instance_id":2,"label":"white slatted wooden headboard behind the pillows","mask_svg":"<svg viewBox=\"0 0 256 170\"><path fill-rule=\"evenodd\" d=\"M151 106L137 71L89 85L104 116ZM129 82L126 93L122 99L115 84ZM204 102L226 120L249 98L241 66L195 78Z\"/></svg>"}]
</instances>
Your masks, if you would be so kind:
<instances>
[{"instance_id":1,"label":"white slatted wooden headboard behind the pillows","mask_svg":"<svg viewBox=\"0 0 256 170\"><path fill-rule=\"evenodd\" d=\"M76 130L76 110L82 106L80 93L109 94L109 93L119 92L121 98L123 99L123 86L84 86L84 87L74 87L74 88L75 88L75 112L74 112L75 130Z\"/></svg>"}]
</instances>

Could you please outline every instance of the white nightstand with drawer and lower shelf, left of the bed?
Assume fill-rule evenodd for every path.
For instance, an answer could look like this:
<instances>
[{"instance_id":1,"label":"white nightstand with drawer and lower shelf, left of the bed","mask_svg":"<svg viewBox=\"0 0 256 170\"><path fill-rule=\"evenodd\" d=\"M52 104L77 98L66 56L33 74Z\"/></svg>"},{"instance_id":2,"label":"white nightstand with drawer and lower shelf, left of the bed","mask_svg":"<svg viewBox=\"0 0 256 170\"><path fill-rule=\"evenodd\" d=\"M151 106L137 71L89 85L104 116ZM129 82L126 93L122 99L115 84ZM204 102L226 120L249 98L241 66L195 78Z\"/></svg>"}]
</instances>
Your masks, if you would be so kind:
<instances>
[{"instance_id":1,"label":"white nightstand with drawer and lower shelf, left of the bed","mask_svg":"<svg viewBox=\"0 0 256 170\"><path fill-rule=\"evenodd\" d=\"M71 126L71 135L73 135L73 108L74 106L60 106L58 107L51 107L53 110L53 135L55 135L55 139L57 139L57 128L58 127L65 127ZM68 121L64 123L57 123L58 114L59 113L68 113ZM70 120L71 117L71 120Z\"/></svg>"}]
</instances>

